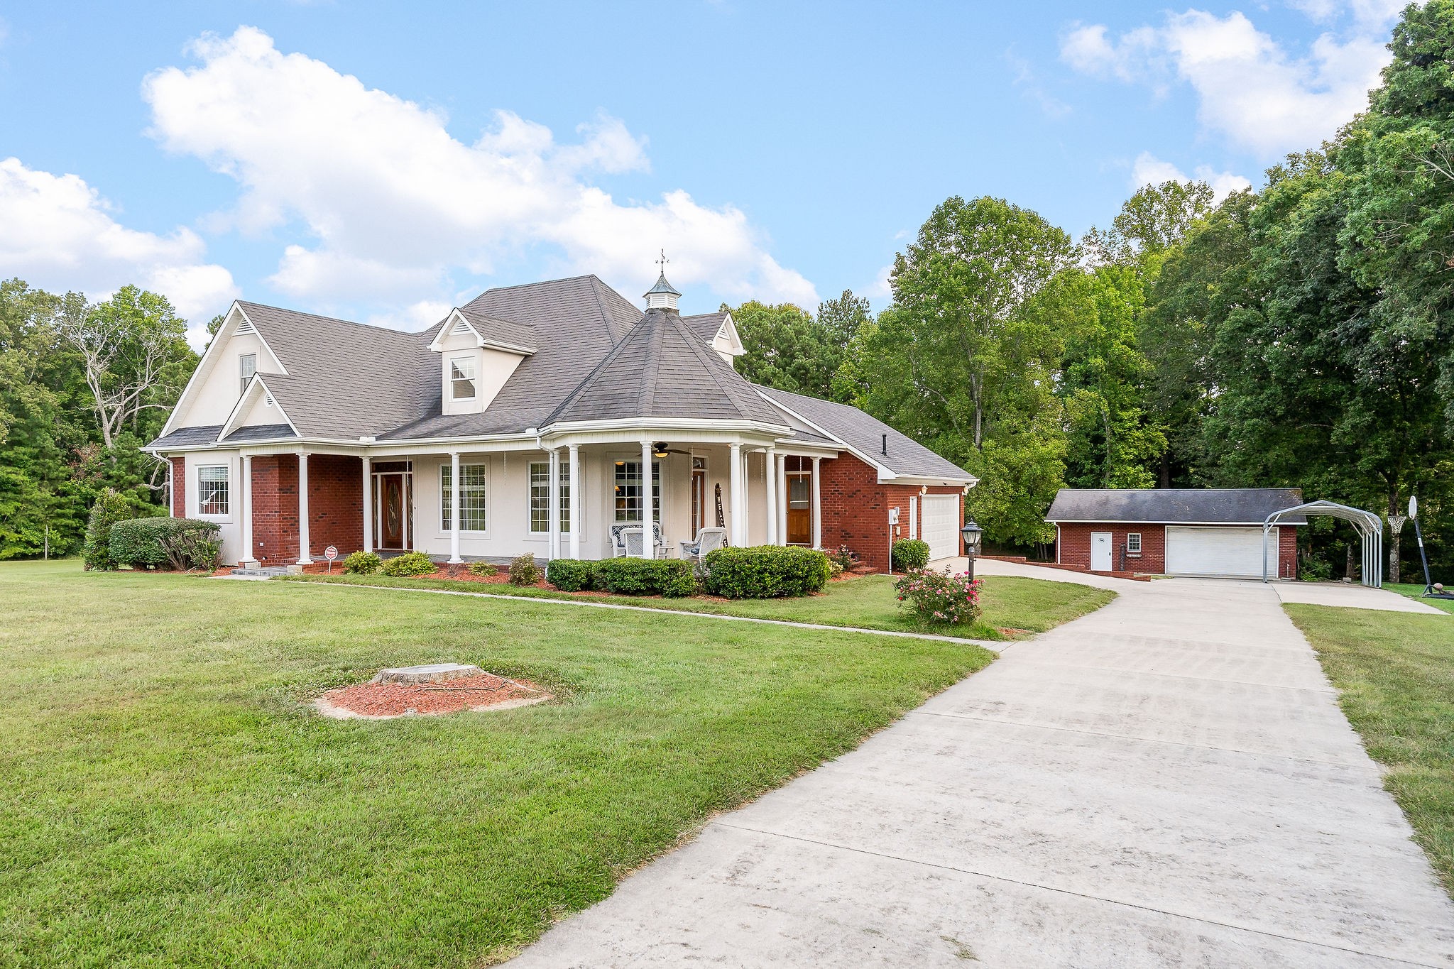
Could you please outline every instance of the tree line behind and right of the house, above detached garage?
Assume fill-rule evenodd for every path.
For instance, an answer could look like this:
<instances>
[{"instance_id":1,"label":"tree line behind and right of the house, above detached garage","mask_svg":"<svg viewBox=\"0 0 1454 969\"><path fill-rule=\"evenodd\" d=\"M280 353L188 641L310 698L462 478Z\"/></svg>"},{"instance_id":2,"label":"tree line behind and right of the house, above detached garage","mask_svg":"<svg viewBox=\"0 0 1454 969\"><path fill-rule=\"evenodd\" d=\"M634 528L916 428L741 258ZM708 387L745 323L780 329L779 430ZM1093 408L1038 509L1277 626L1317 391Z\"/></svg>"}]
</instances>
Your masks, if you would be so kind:
<instances>
[{"instance_id":1,"label":"tree line behind and right of the house, above detached garage","mask_svg":"<svg viewBox=\"0 0 1454 969\"><path fill-rule=\"evenodd\" d=\"M750 379L853 402L980 478L1000 546L1053 539L1060 487L1301 487L1390 522L1389 577L1454 565L1454 0L1410 6L1370 106L1259 190L1134 193L1082 240L1003 199L947 199L872 317L731 308ZM1351 574L1316 519L1301 568Z\"/></svg>"}]
</instances>

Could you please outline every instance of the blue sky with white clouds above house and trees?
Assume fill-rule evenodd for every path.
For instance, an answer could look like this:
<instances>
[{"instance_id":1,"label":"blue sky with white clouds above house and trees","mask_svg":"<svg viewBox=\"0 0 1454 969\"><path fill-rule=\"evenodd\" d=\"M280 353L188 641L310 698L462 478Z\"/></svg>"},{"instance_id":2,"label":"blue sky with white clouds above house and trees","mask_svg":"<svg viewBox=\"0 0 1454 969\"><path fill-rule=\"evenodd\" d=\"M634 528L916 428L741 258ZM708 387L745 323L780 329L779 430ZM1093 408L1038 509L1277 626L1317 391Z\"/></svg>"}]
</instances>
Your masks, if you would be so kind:
<instances>
[{"instance_id":1,"label":"blue sky with white clouds above house and trees","mask_svg":"<svg viewBox=\"0 0 1454 969\"><path fill-rule=\"evenodd\" d=\"M887 299L935 203L1080 234L1261 183L1364 103L1397 6L10 3L0 276L416 327L660 247L683 309Z\"/></svg>"}]
</instances>

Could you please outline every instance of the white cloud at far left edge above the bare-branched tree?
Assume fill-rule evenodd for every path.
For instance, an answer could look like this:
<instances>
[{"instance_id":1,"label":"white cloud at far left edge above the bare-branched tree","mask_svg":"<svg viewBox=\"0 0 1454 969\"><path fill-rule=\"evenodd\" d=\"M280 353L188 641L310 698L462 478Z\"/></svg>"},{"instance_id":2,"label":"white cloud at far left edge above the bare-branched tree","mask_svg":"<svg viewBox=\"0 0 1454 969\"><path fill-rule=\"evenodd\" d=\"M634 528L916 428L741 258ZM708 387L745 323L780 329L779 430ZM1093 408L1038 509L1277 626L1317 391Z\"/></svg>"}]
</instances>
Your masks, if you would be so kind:
<instances>
[{"instance_id":1,"label":"white cloud at far left edge above the bare-branched tree","mask_svg":"<svg viewBox=\"0 0 1454 969\"><path fill-rule=\"evenodd\" d=\"M74 174L0 160L0 275L45 289L103 298L126 283L166 295L205 334L206 320L237 296L233 276L204 261L189 228L170 235L129 230L96 189Z\"/></svg>"}]
</instances>

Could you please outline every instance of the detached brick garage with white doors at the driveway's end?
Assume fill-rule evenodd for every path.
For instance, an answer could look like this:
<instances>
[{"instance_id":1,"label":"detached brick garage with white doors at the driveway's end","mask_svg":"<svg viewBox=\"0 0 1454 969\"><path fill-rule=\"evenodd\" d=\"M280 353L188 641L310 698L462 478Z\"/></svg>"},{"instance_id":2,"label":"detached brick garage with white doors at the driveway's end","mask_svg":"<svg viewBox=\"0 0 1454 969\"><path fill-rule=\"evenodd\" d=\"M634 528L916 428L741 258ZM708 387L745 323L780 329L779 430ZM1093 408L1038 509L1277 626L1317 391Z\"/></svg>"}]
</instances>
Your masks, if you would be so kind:
<instances>
[{"instance_id":1,"label":"detached brick garage with white doors at the driveway's end","mask_svg":"<svg viewBox=\"0 0 1454 969\"><path fill-rule=\"evenodd\" d=\"M1300 488L1061 488L1045 520L1061 565L1262 578L1262 522L1300 504ZM1268 575L1297 578L1298 524L1290 516L1268 533Z\"/></svg>"}]
</instances>

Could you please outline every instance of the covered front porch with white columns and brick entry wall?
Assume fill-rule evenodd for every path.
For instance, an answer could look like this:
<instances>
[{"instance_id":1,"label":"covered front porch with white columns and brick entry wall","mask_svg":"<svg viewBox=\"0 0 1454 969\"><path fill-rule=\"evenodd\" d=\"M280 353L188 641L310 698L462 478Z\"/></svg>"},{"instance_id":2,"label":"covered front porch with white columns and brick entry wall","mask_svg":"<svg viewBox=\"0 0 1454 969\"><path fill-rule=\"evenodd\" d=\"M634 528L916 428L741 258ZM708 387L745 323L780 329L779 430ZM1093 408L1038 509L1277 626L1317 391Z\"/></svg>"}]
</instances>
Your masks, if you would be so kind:
<instances>
[{"instance_id":1,"label":"covered front porch with white columns and brick entry wall","mask_svg":"<svg viewBox=\"0 0 1454 969\"><path fill-rule=\"evenodd\" d=\"M241 449L224 558L308 565L329 546L438 561L675 558L702 529L728 545L822 545L820 461L835 449L721 431L601 433L359 449ZM352 452L352 453L348 453ZM205 459L215 465L217 455ZM190 459L189 459L190 463ZM643 475L643 468L650 468ZM196 481L196 474L185 475ZM291 507L289 507L291 506Z\"/></svg>"}]
</instances>

